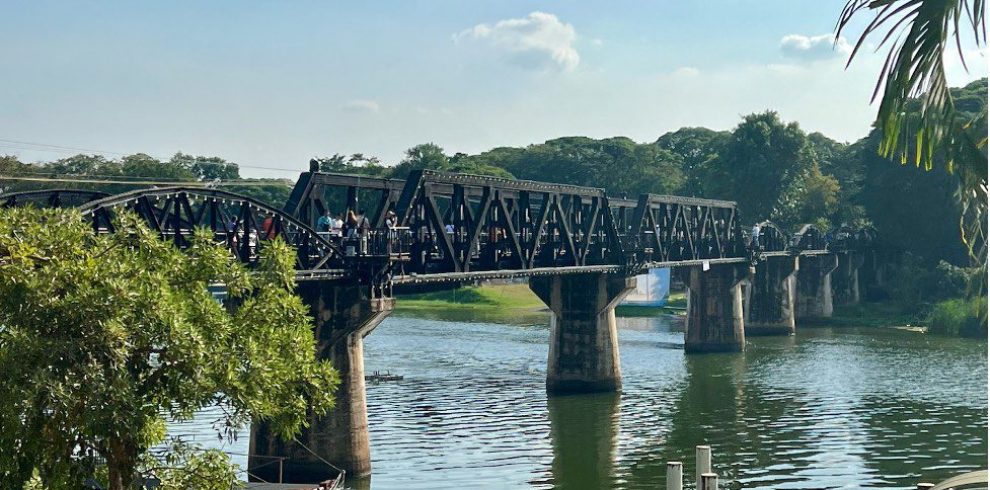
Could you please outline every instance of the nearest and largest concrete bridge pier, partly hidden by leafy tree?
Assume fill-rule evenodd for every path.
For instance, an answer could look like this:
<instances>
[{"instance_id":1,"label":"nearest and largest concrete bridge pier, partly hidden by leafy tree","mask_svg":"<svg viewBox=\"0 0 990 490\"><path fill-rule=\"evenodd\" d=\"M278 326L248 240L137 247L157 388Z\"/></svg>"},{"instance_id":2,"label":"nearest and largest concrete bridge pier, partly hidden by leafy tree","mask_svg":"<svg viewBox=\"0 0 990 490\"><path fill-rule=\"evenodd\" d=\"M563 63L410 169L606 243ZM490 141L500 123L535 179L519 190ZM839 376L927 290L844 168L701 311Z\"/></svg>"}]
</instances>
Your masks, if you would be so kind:
<instances>
[{"instance_id":1,"label":"nearest and largest concrete bridge pier, partly hidden by leafy tree","mask_svg":"<svg viewBox=\"0 0 990 490\"><path fill-rule=\"evenodd\" d=\"M279 439L265 423L253 423L249 471L277 481L279 465L272 457L285 457L286 483L313 483L333 476L333 469L322 460L351 476L370 474L364 337L392 312L394 300L376 297L370 286L324 281L301 282L297 292L316 320L317 355L329 359L340 375L336 405L326 416L310 415L309 427L297 437L305 447Z\"/></svg>"}]
</instances>

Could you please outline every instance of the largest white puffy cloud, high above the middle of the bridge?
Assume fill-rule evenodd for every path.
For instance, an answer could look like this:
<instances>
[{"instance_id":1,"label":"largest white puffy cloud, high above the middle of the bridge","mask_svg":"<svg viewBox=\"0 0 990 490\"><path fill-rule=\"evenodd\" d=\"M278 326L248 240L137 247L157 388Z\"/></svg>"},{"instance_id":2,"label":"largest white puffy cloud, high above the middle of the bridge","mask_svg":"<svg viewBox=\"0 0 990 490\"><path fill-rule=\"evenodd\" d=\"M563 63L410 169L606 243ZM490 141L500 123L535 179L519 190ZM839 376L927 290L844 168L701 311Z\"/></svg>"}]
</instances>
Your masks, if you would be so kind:
<instances>
[{"instance_id":1,"label":"largest white puffy cloud, high above the middle of the bridge","mask_svg":"<svg viewBox=\"0 0 990 490\"><path fill-rule=\"evenodd\" d=\"M478 24L454 35L454 42L484 43L503 52L507 59L531 69L573 70L581 62L574 48L574 26L556 15L532 12L521 19Z\"/></svg>"}]
</instances>

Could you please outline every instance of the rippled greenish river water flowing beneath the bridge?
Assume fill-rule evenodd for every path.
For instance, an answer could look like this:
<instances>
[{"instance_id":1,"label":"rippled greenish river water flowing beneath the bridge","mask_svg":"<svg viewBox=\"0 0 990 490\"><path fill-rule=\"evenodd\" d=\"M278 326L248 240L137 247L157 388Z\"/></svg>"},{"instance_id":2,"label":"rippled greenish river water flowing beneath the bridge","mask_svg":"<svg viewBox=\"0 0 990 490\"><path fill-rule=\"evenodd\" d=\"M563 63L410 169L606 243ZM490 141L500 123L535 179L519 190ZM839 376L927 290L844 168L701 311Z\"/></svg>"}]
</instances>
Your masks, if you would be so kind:
<instances>
[{"instance_id":1,"label":"rippled greenish river water flowing beneath the bridge","mask_svg":"<svg viewBox=\"0 0 990 490\"><path fill-rule=\"evenodd\" d=\"M987 463L987 343L800 328L687 356L683 320L620 317L621 395L548 399L547 319L395 315L365 339L374 474L353 488L664 488L710 444L745 488L914 488ZM215 418L215 417L213 417ZM173 424L243 466L211 414Z\"/></svg>"}]
</instances>

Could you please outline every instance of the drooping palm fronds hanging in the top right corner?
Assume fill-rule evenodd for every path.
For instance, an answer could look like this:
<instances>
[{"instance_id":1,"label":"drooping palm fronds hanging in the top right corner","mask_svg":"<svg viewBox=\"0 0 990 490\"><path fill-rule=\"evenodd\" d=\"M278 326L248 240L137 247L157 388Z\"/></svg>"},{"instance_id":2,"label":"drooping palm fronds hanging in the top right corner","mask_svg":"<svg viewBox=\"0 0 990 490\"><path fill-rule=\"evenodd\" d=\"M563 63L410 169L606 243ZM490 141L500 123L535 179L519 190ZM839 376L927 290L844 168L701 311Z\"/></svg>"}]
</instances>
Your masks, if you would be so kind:
<instances>
[{"instance_id":1,"label":"drooping palm fronds hanging in the top right corner","mask_svg":"<svg viewBox=\"0 0 990 490\"><path fill-rule=\"evenodd\" d=\"M971 259L987 267L987 110L971 117L954 103L945 76L945 55L955 44L963 64L963 33L986 45L985 0L849 0L836 37L860 13L873 20L849 55L855 58L866 40L881 32L880 46L890 46L873 100L880 99L876 126L878 150L902 164L932 169L937 163L958 178L960 232ZM979 61L982 63L982 61ZM985 91L984 91L985 93ZM920 107L909 107L918 101Z\"/></svg>"}]
</instances>

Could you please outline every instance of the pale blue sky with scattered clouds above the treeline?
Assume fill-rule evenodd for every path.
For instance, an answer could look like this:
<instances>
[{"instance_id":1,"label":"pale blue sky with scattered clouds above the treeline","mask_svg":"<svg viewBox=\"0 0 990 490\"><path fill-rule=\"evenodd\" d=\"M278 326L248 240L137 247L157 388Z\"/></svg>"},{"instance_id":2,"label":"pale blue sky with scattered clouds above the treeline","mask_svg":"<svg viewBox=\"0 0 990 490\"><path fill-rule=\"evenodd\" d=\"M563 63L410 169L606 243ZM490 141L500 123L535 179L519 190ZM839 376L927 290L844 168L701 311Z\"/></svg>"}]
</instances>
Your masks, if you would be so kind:
<instances>
[{"instance_id":1,"label":"pale blue sky with scattered clouds above the treeline","mask_svg":"<svg viewBox=\"0 0 990 490\"><path fill-rule=\"evenodd\" d=\"M844 3L6 0L0 154L182 151L293 178L313 156L649 142L768 109L851 142L886 52L845 69L868 19L834 42ZM987 76L963 50L953 85Z\"/></svg>"}]
</instances>

